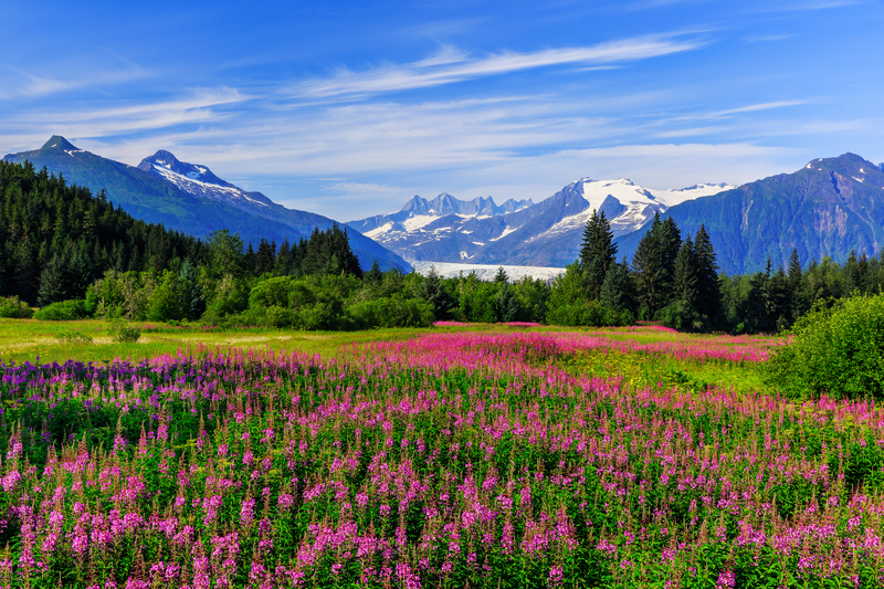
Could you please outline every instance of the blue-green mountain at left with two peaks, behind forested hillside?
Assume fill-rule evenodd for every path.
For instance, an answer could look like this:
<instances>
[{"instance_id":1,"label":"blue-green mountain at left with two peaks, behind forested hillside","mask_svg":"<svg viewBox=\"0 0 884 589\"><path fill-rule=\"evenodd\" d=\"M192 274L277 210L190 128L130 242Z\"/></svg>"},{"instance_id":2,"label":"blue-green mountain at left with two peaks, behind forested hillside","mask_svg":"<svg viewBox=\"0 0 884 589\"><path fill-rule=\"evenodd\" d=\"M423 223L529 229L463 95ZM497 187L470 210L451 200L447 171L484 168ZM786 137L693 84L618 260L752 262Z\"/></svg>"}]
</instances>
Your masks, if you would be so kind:
<instances>
[{"instance_id":1,"label":"blue-green mountain at left with two peaks, behind forested hillside","mask_svg":"<svg viewBox=\"0 0 884 589\"><path fill-rule=\"evenodd\" d=\"M327 229L334 223L319 214L286 209L260 192L241 190L207 167L180 162L168 151L158 151L134 168L53 136L40 149L10 154L3 159L29 160L38 169L45 166L49 171L63 175L67 182L95 193L104 189L112 202L133 217L199 238L229 229L255 246L262 238L275 240L278 245L286 238L307 238L314 229ZM167 160L168 166L160 164ZM397 254L355 231L350 232L350 245L366 269L375 259L382 267L410 267Z\"/></svg>"}]
</instances>

